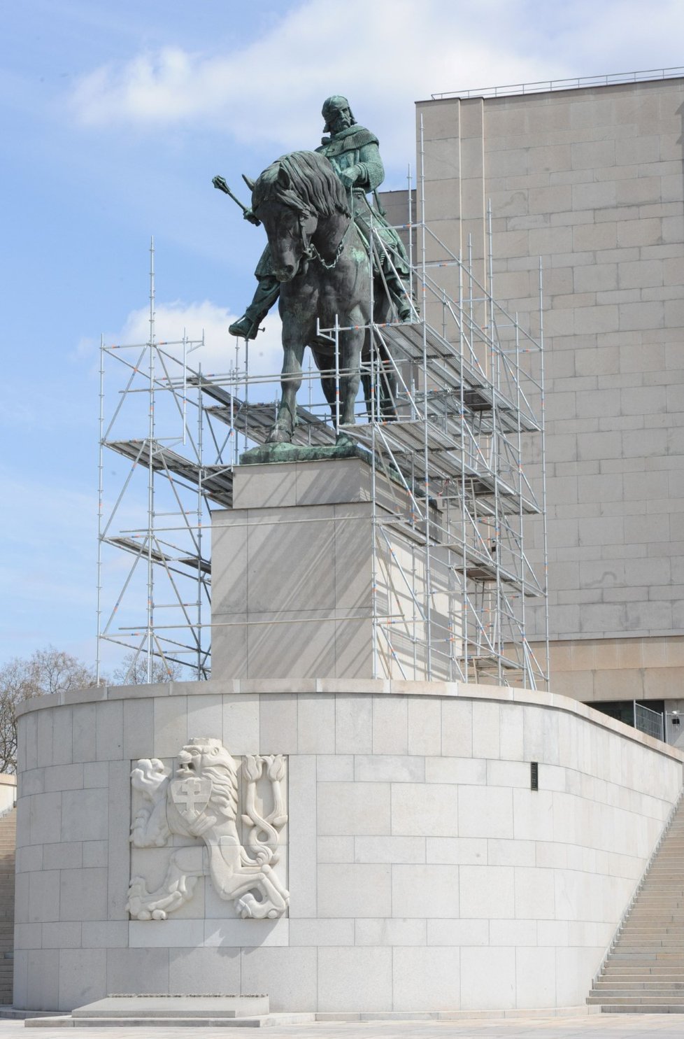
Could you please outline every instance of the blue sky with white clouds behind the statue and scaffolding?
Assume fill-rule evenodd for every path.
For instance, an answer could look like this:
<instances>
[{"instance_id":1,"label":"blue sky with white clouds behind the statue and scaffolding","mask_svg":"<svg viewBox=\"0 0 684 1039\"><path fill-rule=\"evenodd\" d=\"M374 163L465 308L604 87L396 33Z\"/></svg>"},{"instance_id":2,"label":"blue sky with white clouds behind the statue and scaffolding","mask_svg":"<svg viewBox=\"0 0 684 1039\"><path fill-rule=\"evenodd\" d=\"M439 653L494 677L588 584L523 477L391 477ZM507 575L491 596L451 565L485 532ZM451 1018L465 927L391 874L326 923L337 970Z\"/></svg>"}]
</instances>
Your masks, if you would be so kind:
<instances>
[{"instance_id":1,"label":"blue sky with white clouds behind the statue and scaffolding","mask_svg":"<svg viewBox=\"0 0 684 1039\"><path fill-rule=\"evenodd\" d=\"M214 175L248 201L241 174L317 146L344 94L403 188L415 101L676 66L684 4L0 0L0 26L1 666L94 660L99 344L146 334L151 236L158 337L203 331L226 371L265 238ZM279 368L277 318L254 352Z\"/></svg>"}]
</instances>

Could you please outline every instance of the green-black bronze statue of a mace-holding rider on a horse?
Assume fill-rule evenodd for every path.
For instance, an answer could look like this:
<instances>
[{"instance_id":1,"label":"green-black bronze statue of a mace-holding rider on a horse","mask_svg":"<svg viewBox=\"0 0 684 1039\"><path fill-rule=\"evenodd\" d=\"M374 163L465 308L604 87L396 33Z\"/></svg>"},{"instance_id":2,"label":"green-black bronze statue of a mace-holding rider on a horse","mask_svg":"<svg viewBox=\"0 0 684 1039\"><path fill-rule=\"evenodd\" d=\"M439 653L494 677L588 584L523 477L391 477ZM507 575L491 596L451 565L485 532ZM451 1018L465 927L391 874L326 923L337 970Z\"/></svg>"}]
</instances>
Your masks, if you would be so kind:
<instances>
[{"instance_id":1,"label":"green-black bronze statue of a mace-holding rider on a horse","mask_svg":"<svg viewBox=\"0 0 684 1039\"><path fill-rule=\"evenodd\" d=\"M401 321L412 313L402 242L366 198L384 179L378 140L356 124L346 98L329 98L323 115L330 137L322 146L282 156L253 183L251 208L239 203L246 219L264 224L268 245L256 267L254 298L229 331L253 339L278 298L282 319L282 396L269 443L292 438L306 346L321 372L333 421L353 424L361 357L371 357L371 335L363 326L372 319L384 323L392 308ZM214 185L235 198L223 178L214 178ZM317 321L320 328L339 326L338 377L334 345L317 335ZM386 354L380 359L379 408L391 417L391 363ZM364 389L368 407L367 375Z\"/></svg>"}]
</instances>

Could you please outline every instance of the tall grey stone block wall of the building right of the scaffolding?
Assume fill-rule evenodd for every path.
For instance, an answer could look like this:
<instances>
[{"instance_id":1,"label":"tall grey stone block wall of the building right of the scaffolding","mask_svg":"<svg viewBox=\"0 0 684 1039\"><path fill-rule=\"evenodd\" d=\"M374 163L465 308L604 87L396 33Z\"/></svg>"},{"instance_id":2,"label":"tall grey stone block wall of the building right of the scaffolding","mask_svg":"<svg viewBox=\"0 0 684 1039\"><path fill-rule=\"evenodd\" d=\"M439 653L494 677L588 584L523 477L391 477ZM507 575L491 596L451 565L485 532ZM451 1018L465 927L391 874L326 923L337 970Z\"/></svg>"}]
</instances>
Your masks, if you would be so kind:
<instances>
[{"instance_id":1,"label":"tall grey stone block wall of the building right of the scaffolding","mask_svg":"<svg viewBox=\"0 0 684 1039\"><path fill-rule=\"evenodd\" d=\"M491 199L494 295L532 331L541 257L566 643L684 634L683 102L669 79L418 104L427 219L483 278Z\"/></svg>"}]
</instances>

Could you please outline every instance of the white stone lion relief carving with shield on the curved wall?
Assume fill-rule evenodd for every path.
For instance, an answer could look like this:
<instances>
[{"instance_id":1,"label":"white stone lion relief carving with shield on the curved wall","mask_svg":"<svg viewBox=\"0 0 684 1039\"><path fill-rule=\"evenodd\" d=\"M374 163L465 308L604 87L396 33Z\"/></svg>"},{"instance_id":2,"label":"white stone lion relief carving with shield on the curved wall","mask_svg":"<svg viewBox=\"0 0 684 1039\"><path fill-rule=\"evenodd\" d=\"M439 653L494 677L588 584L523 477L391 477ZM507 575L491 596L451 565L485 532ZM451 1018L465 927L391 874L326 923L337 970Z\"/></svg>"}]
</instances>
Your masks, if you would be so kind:
<instances>
[{"instance_id":1,"label":"white stone lion relief carving with shield on the curved wall","mask_svg":"<svg viewBox=\"0 0 684 1039\"><path fill-rule=\"evenodd\" d=\"M198 855L201 849L196 844L170 850L166 876L156 890L148 890L144 877L131 877L127 903L131 916L166 920L192 898L197 879L204 875L221 899L235 901L240 916L281 916L290 903L290 894L275 873L279 834L288 821L284 771L281 754L247 754L240 769L221 741L209 737L185 746L173 770L158 757L138 761L131 773L133 846L163 848L175 835L203 842L206 852ZM259 807L257 785L270 792L268 815Z\"/></svg>"}]
</instances>

